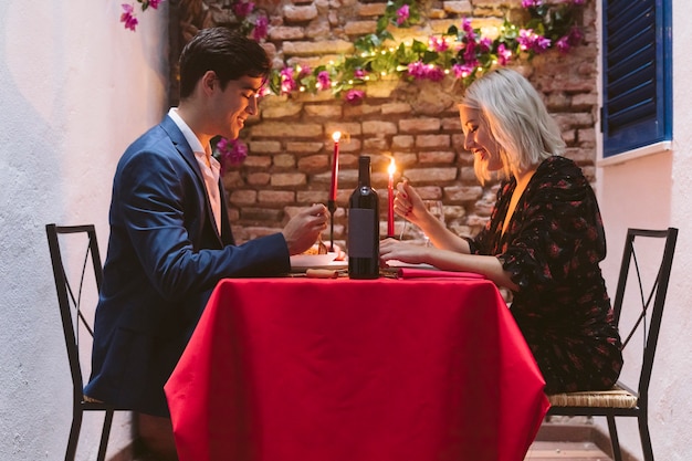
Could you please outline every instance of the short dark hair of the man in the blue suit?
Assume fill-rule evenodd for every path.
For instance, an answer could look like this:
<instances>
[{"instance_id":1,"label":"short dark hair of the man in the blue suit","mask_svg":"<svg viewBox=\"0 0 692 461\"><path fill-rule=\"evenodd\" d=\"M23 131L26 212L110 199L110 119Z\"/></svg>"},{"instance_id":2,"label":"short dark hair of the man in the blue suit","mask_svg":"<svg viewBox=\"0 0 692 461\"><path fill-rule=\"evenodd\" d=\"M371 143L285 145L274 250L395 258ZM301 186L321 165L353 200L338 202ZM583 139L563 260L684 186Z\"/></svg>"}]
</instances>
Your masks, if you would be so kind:
<instances>
[{"instance_id":1,"label":"short dark hair of the man in the blue suit","mask_svg":"<svg viewBox=\"0 0 692 461\"><path fill-rule=\"evenodd\" d=\"M207 71L219 77L221 88L243 76L266 78L271 63L254 40L227 28L202 29L180 53L180 98L192 94Z\"/></svg>"}]
</instances>

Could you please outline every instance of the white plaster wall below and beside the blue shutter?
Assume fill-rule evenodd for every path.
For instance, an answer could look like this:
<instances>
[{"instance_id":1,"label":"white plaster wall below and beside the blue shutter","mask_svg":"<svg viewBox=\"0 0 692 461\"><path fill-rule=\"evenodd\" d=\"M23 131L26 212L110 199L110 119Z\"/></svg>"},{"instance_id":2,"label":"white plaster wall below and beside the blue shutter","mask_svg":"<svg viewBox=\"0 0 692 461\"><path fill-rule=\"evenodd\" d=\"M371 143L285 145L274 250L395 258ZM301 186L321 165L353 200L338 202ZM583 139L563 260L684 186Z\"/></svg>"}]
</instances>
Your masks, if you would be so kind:
<instances>
[{"instance_id":1,"label":"white plaster wall below and beside the blue shutter","mask_svg":"<svg viewBox=\"0 0 692 461\"><path fill-rule=\"evenodd\" d=\"M680 229L649 402L654 455L664 461L692 459L692 29L685 23L690 15L692 2L673 0L672 151L604 167L598 178L609 247L604 270L611 294L628 227ZM641 458L635 420L620 420L621 443ZM598 422L605 429L605 421Z\"/></svg>"}]
</instances>

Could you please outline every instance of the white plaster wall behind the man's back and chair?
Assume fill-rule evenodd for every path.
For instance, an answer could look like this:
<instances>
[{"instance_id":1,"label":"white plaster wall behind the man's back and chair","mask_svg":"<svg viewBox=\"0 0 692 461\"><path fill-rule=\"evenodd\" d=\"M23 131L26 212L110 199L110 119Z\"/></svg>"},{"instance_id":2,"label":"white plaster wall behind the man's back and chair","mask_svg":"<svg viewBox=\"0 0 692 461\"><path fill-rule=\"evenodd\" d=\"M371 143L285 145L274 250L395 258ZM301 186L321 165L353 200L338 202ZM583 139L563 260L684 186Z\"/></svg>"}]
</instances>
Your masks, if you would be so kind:
<instances>
[{"instance_id":1,"label":"white plaster wall behind the man's back and chair","mask_svg":"<svg viewBox=\"0 0 692 461\"><path fill-rule=\"evenodd\" d=\"M167 3L118 22L122 0L0 2L0 460L59 460L71 381L44 226L94 223L105 256L124 148L166 106ZM95 459L87 416L77 459ZM132 439L116 418L109 453Z\"/></svg>"}]
</instances>

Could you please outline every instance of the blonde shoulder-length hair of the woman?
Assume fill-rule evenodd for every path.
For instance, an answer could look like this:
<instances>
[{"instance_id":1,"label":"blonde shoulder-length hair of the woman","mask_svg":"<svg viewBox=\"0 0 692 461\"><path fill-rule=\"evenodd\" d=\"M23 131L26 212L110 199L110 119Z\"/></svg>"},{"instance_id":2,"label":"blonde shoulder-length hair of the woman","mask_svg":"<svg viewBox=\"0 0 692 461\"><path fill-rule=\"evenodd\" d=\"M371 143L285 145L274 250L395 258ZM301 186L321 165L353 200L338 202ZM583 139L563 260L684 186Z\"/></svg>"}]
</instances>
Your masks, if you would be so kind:
<instances>
[{"instance_id":1,"label":"blonde shoulder-length hair of the woman","mask_svg":"<svg viewBox=\"0 0 692 461\"><path fill-rule=\"evenodd\" d=\"M497 145L505 177L535 167L547 157L563 155L565 142L532 84L511 69L492 71L473 82L459 106L476 109ZM474 163L481 182L490 171Z\"/></svg>"}]
</instances>

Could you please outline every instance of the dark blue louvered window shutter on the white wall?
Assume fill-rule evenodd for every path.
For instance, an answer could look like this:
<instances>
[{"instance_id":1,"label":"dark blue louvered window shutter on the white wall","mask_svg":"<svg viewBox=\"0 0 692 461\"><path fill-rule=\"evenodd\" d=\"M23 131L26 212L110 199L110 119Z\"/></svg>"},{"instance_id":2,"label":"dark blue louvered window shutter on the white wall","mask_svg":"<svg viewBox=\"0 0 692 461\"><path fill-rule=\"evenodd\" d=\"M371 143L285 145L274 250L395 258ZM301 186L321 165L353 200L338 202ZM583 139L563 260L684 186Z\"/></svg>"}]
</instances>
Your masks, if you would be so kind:
<instances>
[{"instance_id":1,"label":"dark blue louvered window shutter on the white wall","mask_svg":"<svg viewBox=\"0 0 692 461\"><path fill-rule=\"evenodd\" d=\"M604 157L672 139L671 0L604 0Z\"/></svg>"}]
</instances>

